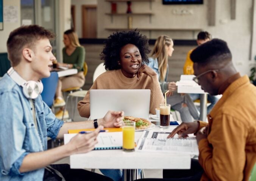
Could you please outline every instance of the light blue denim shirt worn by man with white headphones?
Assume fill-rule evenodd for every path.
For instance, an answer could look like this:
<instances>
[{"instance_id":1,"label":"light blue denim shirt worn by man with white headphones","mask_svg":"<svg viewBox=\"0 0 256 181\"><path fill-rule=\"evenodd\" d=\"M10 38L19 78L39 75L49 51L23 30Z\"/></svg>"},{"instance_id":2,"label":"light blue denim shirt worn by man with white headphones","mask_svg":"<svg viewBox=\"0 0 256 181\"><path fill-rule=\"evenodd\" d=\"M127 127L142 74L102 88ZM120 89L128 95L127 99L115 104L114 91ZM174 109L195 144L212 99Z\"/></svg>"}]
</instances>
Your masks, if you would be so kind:
<instances>
[{"instance_id":1,"label":"light blue denim shirt worn by man with white headphones","mask_svg":"<svg viewBox=\"0 0 256 181\"><path fill-rule=\"evenodd\" d=\"M0 180L42 180L44 168L20 173L24 157L32 152L47 150L47 137L55 139L63 121L55 118L41 95L33 100L37 130L31 101L22 87L8 74L0 79Z\"/></svg>"}]
</instances>

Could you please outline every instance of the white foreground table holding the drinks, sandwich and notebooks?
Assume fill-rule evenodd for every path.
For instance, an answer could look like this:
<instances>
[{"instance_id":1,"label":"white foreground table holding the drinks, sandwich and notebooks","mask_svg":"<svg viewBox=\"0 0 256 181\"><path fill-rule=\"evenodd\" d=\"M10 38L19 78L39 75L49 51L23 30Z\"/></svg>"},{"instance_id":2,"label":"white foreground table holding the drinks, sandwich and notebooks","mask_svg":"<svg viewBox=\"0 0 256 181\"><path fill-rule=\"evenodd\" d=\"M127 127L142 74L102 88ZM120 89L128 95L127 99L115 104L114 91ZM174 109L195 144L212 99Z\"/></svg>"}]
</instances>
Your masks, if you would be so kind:
<instances>
[{"instance_id":1,"label":"white foreground table holding the drinks, sandwich and notebooks","mask_svg":"<svg viewBox=\"0 0 256 181\"><path fill-rule=\"evenodd\" d=\"M171 132L175 127L167 129L155 127L151 130ZM142 131L135 132L135 140L139 140ZM65 140L65 135L64 135ZM135 169L190 169L191 156L186 153L158 152L123 152L123 150L92 150L70 156L72 169L125 169L134 175ZM125 174L124 173L124 174ZM136 178L136 177L133 177ZM129 180L133 180L129 178ZM127 180L127 178L125 178Z\"/></svg>"}]
</instances>

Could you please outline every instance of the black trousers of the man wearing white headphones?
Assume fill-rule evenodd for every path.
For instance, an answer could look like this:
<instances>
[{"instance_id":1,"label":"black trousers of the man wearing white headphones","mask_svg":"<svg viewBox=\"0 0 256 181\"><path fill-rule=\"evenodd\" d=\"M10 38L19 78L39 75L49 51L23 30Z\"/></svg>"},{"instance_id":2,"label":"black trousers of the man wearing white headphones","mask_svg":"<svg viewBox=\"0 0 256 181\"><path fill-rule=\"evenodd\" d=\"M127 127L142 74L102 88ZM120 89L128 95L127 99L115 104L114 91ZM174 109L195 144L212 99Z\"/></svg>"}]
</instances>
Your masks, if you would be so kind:
<instances>
[{"instance_id":1,"label":"black trousers of the man wearing white headphones","mask_svg":"<svg viewBox=\"0 0 256 181\"><path fill-rule=\"evenodd\" d=\"M51 167L58 170L66 181L113 181L109 177L84 169L70 169L69 164L54 164ZM45 169L43 181L61 181L61 178Z\"/></svg>"}]
</instances>

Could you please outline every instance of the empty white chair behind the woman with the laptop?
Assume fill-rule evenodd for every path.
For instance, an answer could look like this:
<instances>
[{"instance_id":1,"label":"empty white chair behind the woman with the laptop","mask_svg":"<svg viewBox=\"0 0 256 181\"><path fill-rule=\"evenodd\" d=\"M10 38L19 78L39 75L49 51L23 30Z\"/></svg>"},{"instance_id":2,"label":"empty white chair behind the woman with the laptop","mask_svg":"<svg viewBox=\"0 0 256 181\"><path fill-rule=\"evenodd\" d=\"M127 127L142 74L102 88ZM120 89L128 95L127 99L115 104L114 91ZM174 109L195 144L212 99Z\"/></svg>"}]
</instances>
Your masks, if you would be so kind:
<instances>
[{"instance_id":1,"label":"empty white chair behind the woman with the laptop","mask_svg":"<svg viewBox=\"0 0 256 181\"><path fill-rule=\"evenodd\" d=\"M97 78L100 74L102 74L102 73L104 73L104 72L106 72L106 69L105 69L105 66L103 65L103 63L101 63L101 64L99 64L99 65L97 66L97 68L96 68L95 71L94 71L93 78L92 78L93 81L95 81L96 78ZM74 107L74 109L73 109L72 116L70 117L71 120L74 121L74 119L75 119L75 112L76 112L76 105L77 105L77 102L78 102L78 98L79 98L79 97L84 98L85 95L87 94L87 92L88 92L88 90L78 90L78 91L76 91L76 92L72 92L72 93L70 93L69 95L67 95L67 98L66 98L66 105L67 105L67 101L69 100L69 97L71 97L71 98L76 98L76 100L75 100L75 105L72 106L72 107Z\"/></svg>"}]
</instances>

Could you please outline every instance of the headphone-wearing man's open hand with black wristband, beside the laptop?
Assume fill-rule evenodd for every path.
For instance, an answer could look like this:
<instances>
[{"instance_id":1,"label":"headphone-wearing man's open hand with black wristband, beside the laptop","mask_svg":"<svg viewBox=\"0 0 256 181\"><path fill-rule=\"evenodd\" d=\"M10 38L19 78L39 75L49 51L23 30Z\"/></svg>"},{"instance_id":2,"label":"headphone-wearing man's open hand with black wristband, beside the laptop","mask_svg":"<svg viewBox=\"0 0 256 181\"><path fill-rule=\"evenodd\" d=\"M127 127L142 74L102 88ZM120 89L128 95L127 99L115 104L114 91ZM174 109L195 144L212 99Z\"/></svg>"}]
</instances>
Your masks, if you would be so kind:
<instances>
[{"instance_id":1,"label":"headphone-wearing man's open hand with black wristband, beside the laptop","mask_svg":"<svg viewBox=\"0 0 256 181\"><path fill-rule=\"evenodd\" d=\"M102 118L102 125L104 127L120 127L123 125L123 111L109 110Z\"/></svg>"}]
</instances>

